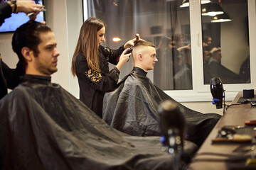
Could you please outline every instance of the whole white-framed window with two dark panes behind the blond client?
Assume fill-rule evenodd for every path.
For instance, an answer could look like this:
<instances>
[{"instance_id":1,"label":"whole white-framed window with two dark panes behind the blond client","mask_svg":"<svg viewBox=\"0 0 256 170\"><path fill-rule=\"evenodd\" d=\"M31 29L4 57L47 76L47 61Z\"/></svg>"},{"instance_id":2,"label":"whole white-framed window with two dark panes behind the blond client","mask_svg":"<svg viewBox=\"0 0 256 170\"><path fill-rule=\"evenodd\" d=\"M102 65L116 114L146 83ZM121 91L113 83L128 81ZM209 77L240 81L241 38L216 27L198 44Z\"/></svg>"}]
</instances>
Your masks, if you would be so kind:
<instances>
[{"instance_id":1,"label":"whole white-framed window with two dark panes behind the blond client","mask_svg":"<svg viewBox=\"0 0 256 170\"><path fill-rule=\"evenodd\" d=\"M256 30L255 1L195 0L187 6L183 2L87 0L84 9L87 16L101 18L107 23L107 41L103 44L107 47L117 48L134 38L136 33L144 40L154 42L159 62L148 77L177 101L211 101L209 80L212 77L223 80L226 100L232 100L242 89L255 89L251 66L255 64L252 56L256 53L249 48L256 44L252 38ZM223 8L231 21L210 22L214 16L207 16L203 11L210 4ZM207 37L208 42L203 42ZM112 38L121 41L114 42ZM212 44L207 45L210 38ZM219 48L210 49L210 46ZM220 52L222 57L217 64L222 69L206 65L209 63L207 57L213 62L213 55L220 57ZM122 68L121 77L128 74L132 66L132 62L127 63ZM211 67L214 69L210 70Z\"/></svg>"}]
</instances>

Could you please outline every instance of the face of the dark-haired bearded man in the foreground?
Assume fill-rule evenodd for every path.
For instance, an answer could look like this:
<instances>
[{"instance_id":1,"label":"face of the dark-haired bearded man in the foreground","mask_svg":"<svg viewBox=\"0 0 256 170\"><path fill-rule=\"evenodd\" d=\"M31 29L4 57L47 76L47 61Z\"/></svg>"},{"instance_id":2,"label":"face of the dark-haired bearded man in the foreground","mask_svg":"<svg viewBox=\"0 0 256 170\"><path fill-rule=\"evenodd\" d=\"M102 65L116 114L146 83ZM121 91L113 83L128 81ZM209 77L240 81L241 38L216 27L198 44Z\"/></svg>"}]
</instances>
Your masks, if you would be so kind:
<instances>
[{"instance_id":1,"label":"face of the dark-haired bearded man in the foreground","mask_svg":"<svg viewBox=\"0 0 256 170\"><path fill-rule=\"evenodd\" d=\"M38 57L34 58L34 67L42 76L50 76L57 72L57 57L60 55L53 32L40 33L41 43L38 45Z\"/></svg>"}]
</instances>

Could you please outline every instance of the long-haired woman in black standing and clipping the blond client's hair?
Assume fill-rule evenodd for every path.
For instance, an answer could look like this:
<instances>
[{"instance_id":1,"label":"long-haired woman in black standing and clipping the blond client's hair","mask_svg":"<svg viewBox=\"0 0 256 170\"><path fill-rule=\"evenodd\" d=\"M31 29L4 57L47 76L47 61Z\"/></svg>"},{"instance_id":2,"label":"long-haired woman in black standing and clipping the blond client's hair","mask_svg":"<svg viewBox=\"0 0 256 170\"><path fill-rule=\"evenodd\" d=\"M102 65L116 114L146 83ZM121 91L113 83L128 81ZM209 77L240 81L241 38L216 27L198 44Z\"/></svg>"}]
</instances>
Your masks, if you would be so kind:
<instances>
[{"instance_id":1,"label":"long-haired woman in black standing and clipping the blond client's hair","mask_svg":"<svg viewBox=\"0 0 256 170\"><path fill-rule=\"evenodd\" d=\"M104 94L114 90L119 70L131 55L124 55L124 49L132 47L136 41L135 38L129 40L117 50L103 47L100 43L105 41L105 27L103 21L93 17L82 24L71 68L73 76L78 77L80 100L100 118ZM110 71L107 62L116 67Z\"/></svg>"}]
</instances>

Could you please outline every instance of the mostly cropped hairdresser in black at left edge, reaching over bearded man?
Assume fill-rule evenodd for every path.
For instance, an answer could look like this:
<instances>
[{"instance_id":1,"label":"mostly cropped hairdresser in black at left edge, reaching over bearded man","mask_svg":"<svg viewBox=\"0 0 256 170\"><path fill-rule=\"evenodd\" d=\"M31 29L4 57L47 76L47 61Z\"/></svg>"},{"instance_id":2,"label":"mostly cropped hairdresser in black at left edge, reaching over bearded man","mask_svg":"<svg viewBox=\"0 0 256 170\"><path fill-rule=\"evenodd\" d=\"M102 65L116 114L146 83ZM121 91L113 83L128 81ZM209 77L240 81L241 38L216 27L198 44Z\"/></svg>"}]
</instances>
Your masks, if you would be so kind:
<instances>
[{"instance_id":1,"label":"mostly cropped hairdresser in black at left edge, reaching over bearded man","mask_svg":"<svg viewBox=\"0 0 256 170\"><path fill-rule=\"evenodd\" d=\"M0 4L0 26L4 23L5 18L9 18L11 13L33 13L29 16L31 19L36 19L40 9L43 8L41 4L35 4L34 1L7 1ZM16 69L10 69L1 58L0 54L0 99L7 94L8 89L14 89L19 83L19 77L24 74L23 65L18 62Z\"/></svg>"}]
</instances>

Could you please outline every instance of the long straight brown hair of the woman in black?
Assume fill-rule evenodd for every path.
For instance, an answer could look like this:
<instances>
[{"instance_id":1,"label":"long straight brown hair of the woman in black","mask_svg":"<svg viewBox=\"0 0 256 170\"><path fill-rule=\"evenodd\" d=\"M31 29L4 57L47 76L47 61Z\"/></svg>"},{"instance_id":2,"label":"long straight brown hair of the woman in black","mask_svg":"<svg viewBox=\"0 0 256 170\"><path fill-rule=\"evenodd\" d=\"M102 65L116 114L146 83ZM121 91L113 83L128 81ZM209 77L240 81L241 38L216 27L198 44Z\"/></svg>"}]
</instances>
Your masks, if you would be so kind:
<instances>
[{"instance_id":1,"label":"long straight brown hair of the woman in black","mask_svg":"<svg viewBox=\"0 0 256 170\"><path fill-rule=\"evenodd\" d=\"M97 31L106 24L99 18L87 18L85 23L82 24L78 43L75 47L75 52L72 58L71 72L75 77L75 58L82 53L85 56L88 67L95 72L100 72L99 64L99 47L97 42Z\"/></svg>"}]
</instances>

